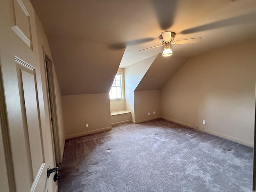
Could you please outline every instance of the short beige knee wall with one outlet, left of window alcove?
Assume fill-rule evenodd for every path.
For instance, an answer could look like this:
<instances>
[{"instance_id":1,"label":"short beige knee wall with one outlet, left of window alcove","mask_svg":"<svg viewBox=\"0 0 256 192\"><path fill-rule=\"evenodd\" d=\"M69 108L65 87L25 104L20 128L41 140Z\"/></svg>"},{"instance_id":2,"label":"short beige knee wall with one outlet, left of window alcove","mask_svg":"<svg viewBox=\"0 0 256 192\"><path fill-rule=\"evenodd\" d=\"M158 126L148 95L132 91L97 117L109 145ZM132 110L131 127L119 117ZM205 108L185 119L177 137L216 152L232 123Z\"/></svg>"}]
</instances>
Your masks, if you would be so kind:
<instances>
[{"instance_id":1,"label":"short beige knee wall with one outlet, left of window alcove","mask_svg":"<svg viewBox=\"0 0 256 192\"><path fill-rule=\"evenodd\" d=\"M62 108L66 138L112 128L108 93L65 95L62 96Z\"/></svg>"}]
</instances>

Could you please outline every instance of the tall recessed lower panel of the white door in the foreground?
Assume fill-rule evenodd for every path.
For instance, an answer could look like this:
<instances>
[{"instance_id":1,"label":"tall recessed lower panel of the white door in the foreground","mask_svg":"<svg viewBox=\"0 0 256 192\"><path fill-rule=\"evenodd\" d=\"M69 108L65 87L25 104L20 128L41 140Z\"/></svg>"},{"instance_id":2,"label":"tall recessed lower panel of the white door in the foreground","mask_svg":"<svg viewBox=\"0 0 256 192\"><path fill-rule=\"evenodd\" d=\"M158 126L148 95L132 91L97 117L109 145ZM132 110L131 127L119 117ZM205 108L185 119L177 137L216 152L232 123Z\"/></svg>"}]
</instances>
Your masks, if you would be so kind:
<instances>
[{"instance_id":1,"label":"tall recessed lower panel of the white door in the foreground","mask_svg":"<svg viewBox=\"0 0 256 192\"><path fill-rule=\"evenodd\" d=\"M30 187L37 182L38 172L44 166L42 130L35 82L35 69L16 58L17 77L22 110L24 144L28 159ZM34 187L34 185L33 185ZM33 190L33 189L32 189Z\"/></svg>"}]
</instances>

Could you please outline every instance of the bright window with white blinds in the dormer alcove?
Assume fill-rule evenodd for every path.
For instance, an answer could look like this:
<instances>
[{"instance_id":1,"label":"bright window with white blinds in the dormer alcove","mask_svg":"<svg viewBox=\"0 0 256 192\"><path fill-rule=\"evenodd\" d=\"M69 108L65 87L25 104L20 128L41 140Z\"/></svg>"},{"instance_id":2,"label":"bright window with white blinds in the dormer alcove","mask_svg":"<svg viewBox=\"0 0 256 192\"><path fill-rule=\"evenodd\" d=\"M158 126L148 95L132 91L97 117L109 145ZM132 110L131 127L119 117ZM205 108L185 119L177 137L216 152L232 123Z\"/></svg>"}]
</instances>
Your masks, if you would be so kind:
<instances>
[{"instance_id":1,"label":"bright window with white blinds in the dormer alcove","mask_svg":"<svg viewBox=\"0 0 256 192\"><path fill-rule=\"evenodd\" d=\"M112 87L109 92L109 98L112 99L123 99L123 74L117 73L114 78Z\"/></svg>"}]
</instances>

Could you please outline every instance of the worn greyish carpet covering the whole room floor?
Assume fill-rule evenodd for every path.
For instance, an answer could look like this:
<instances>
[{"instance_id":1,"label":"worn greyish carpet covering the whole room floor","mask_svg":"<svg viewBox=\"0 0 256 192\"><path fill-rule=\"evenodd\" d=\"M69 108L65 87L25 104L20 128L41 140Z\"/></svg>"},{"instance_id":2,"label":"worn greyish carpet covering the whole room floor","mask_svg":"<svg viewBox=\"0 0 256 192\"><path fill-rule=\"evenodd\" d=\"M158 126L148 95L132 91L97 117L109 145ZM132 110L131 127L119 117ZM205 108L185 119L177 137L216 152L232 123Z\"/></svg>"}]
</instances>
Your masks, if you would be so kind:
<instances>
[{"instance_id":1,"label":"worn greyish carpet covering the whole room floor","mask_svg":"<svg viewBox=\"0 0 256 192\"><path fill-rule=\"evenodd\" d=\"M249 192L253 149L157 119L67 140L58 166L59 192Z\"/></svg>"}]
</instances>

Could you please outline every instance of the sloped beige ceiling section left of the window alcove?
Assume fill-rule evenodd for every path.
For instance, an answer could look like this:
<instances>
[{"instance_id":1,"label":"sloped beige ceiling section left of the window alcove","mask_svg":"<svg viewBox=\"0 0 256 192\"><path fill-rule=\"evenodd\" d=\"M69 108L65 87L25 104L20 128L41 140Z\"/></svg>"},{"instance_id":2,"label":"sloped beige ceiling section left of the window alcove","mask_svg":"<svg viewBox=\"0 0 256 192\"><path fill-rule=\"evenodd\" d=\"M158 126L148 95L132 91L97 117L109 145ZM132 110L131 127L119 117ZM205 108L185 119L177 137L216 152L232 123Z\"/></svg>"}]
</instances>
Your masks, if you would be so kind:
<instances>
[{"instance_id":1,"label":"sloped beige ceiling section left of the window alcove","mask_svg":"<svg viewBox=\"0 0 256 192\"><path fill-rule=\"evenodd\" d=\"M60 36L48 39L62 95L109 92L124 48Z\"/></svg>"}]
</instances>

